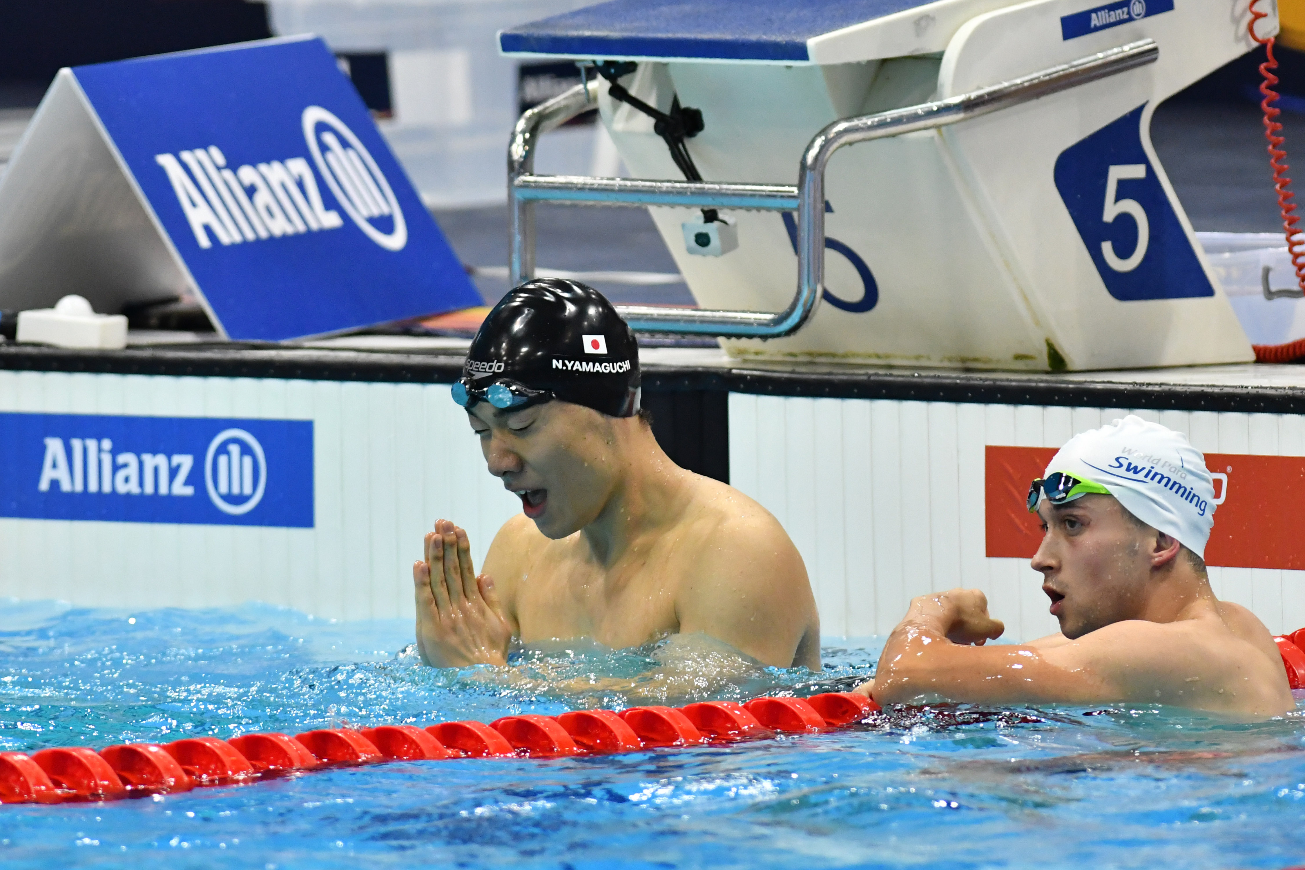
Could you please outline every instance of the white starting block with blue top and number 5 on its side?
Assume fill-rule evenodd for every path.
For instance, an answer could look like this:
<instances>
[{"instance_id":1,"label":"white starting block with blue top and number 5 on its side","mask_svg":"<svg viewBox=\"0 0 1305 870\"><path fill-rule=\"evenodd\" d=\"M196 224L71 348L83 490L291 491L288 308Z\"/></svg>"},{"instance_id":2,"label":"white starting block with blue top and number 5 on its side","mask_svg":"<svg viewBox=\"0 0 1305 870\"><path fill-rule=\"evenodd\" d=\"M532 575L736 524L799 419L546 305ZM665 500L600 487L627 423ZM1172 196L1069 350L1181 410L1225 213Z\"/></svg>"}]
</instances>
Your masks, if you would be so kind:
<instances>
[{"instance_id":1,"label":"white starting block with blue top and number 5 on its side","mask_svg":"<svg viewBox=\"0 0 1305 870\"><path fill-rule=\"evenodd\" d=\"M733 356L990 369L1251 360L1148 136L1160 102L1254 47L1246 0L1092 4L715 0L686 18L671 0L616 0L505 31L500 46L633 60L620 82L634 97L664 112L677 95L702 111L688 149L707 183L792 185L813 137L840 119L912 106L923 116L934 111L924 104L1154 40L1154 63L840 151L823 173L818 307L787 337L724 346ZM1276 17L1262 26L1274 33ZM602 80L589 90L632 176L683 177L650 117ZM569 180L586 181L596 180ZM769 207L722 207L737 248L703 257L681 227L693 211L650 206L702 308L775 312L795 299L804 218ZM518 224L529 233L529 219ZM519 260L527 277L531 257Z\"/></svg>"}]
</instances>

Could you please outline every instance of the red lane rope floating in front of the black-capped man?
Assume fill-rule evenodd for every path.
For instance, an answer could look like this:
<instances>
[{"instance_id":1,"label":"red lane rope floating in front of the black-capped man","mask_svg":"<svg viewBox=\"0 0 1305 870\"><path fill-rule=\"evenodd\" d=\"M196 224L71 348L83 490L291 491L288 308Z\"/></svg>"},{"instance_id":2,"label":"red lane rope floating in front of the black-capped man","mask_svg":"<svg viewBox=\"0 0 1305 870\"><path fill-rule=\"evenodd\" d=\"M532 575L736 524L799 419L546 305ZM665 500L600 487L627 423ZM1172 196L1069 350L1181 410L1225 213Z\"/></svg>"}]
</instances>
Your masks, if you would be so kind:
<instances>
[{"instance_id":1,"label":"red lane rope floating in front of the black-capped man","mask_svg":"<svg viewBox=\"0 0 1305 870\"><path fill-rule=\"evenodd\" d=\"M1297 651L1300 652L1300 651ZM1305 676L1305 653L1302 676ZM128 743L99 753L43 749L0 753L0 803L111 801L251 783L265 776L385 760L442 758L570 758L664 746L697 746L814 733L864 719L869 698L830 693L814 698L710 700L686 707L582 710L561 716L505 716L418 728L381 725L361 732L324 728L295 737L244 734L231 741L187 737L163 746Z\"/></svg>"}]
</instances>

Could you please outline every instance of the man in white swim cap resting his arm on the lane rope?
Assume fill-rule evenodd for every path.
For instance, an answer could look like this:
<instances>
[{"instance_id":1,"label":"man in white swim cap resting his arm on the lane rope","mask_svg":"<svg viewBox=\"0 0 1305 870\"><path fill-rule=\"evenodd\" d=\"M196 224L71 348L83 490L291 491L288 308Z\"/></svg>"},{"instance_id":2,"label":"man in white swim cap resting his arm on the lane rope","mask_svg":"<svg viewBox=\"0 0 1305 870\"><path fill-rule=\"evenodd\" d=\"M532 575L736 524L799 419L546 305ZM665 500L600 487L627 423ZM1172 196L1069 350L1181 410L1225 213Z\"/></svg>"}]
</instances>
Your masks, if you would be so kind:
<instances>
[{"instance_id":1,"label":"man in white swim cap resting his arm on the lane rope","mask_svg":"<svg viewBox=\"0 0 1305 870\"><path fill-rule=\"evenodd\" d=\"M984 646L1004 626L977 590L911 601L873 681L881 704L1159 703L1266 719L1295 710L1274 638L1206 575L1215 492L1177 432L1128 416L1070 438L1032 481L1032 566L1061 631Z\"/></svg>"}]
</instances>

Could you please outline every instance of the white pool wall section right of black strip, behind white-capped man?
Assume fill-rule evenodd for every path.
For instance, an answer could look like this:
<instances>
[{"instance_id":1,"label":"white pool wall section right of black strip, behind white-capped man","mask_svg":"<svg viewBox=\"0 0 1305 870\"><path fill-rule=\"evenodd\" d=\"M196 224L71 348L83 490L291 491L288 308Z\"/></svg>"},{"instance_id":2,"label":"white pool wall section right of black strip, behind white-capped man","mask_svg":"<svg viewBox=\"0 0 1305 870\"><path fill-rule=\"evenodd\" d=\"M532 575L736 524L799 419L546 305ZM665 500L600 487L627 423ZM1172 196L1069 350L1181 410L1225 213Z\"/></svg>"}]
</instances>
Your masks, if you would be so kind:
<instances>
[{"instance_id":1,"label":"white pool wall section right of black strip, behind white-capped man","mask_svg":"<svg viewBox=\"0 0 1305 870\"><path fill-rule=\"evenodd\" d=\"M962 586L1028 640L1057 623L1027 560L985 556L984 447L1058 447L1126 413L1203 453L1305 457L1300 415L732 393L729 476L796 543L822 635L886 634L912 597ZM1305 626L1305 571L1211 566L1210 583L1274 633Z\"/></svg>"}]
</instances>

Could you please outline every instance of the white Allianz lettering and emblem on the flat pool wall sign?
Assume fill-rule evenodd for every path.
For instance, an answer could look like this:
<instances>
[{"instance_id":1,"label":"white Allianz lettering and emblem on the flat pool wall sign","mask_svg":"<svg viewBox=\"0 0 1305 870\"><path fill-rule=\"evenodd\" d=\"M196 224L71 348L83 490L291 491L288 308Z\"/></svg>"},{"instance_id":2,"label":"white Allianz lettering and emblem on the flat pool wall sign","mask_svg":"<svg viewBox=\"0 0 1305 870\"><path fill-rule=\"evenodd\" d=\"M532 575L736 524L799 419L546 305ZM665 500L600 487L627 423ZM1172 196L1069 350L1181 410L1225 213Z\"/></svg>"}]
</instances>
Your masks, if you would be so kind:
<instances>
[{"instance_id":1,"label":"white Allianz lettering and emblem on the flat pool wall sign","mask_svg":"<svg viewBox=\"0 0 1305 870\"><path fill-rule=\"evenodd\" d=\"M194 454L114 453L111 438L47 437L39 492L117 496L194 496ZM244 429L223 429L204 457L204 488L224 514L248 514L268 487L268 458Z\"/></svg>"}]
</instances>

